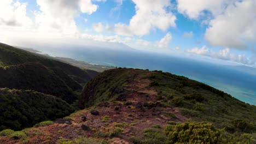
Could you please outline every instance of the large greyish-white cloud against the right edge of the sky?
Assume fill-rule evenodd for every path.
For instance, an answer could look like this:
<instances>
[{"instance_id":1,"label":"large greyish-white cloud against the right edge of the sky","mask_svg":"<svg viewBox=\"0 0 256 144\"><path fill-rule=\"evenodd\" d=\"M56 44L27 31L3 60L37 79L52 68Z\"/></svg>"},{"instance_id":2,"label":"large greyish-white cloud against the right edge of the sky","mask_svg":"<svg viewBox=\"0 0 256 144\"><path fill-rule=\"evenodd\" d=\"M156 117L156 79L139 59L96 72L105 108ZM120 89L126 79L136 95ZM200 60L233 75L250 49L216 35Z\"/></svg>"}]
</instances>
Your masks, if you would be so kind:
<instances>
[{"instance_id":1,"label":"large greyish-white cloud against the right edge of the sky","mask_svg":"<svg viewBox=\"0 0 256 144\"><path fill-rule=\"evenodd\" d=\"M222 15L210 21L205 38L214 46L245 48L256 41L256 1L229 5Z\"/></svg>"}]
</instances>

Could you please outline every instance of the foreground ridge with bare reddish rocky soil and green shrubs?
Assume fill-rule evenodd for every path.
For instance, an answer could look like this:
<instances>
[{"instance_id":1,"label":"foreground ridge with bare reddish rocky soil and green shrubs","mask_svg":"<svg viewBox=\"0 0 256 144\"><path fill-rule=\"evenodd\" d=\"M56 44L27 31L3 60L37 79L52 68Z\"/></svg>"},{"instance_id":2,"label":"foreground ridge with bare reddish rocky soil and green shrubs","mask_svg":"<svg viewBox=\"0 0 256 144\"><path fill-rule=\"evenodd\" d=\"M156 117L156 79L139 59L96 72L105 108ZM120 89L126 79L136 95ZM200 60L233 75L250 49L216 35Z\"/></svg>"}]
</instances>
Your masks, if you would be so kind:
<instances>
[{"instance_id":1,"label":"foreground ridge with bare reddish rocky soil and green shrubs","mask_svg":"<svg viewBox=\"0 0 256 144\"><path fill-rule=\"evenodd\" d=\"M256 106L162 71L104 71L86 84L79 107L83 110L41 127L2 131L0 142L256 142Z\"/></svg>"}]
</instances>

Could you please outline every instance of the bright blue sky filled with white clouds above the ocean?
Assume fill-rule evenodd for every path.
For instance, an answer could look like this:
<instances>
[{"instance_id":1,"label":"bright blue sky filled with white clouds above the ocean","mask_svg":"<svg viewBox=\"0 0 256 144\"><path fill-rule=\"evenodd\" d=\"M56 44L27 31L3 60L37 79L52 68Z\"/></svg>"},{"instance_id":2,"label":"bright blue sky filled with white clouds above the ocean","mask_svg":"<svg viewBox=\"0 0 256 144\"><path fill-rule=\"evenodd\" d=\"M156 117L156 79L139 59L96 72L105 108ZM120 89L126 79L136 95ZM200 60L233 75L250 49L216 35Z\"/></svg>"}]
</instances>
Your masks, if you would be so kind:
<instances>
[{"instance_id":1,"label":"bright blue sky filled with white clouds above the ocean","mask_svg":"<svg viewBox=\"0 0 256 144\"><path fill-rule=\"evenodd\" d=\"M255 0L1 0L0 42L126 45L256 67Z\"/></svg>"}]
</instances>

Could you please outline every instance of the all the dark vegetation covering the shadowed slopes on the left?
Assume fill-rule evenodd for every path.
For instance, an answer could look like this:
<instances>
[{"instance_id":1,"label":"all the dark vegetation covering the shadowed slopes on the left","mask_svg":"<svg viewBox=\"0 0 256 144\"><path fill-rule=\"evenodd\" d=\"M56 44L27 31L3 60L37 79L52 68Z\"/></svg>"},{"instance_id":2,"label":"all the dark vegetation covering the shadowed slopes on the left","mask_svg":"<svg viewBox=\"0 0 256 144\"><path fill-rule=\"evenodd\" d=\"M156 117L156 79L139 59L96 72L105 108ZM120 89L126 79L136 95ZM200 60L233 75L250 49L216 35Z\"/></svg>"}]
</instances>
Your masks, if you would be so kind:
<instances>
[{"instance_id":1,"label":"all the dark vegetation covering the shadowed slopes on the left","mask_svg":"<svg viewBox=\"0 0 256 144\"><path fill-rule=\"evenodd\" d=\"M74 111L69 104L77 103L82 87L97 74L0 43L0 129L69 115Z\"/></svg>"}]
</instances>

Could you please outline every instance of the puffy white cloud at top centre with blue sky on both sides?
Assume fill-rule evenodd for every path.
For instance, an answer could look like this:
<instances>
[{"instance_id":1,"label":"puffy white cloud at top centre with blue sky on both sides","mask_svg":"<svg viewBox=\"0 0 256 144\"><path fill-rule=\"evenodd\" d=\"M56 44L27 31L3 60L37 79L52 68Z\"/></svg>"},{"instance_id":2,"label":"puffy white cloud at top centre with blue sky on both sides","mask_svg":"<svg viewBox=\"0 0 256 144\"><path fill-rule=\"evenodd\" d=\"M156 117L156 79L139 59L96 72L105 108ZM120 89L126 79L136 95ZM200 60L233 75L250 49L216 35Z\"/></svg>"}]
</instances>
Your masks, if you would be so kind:
<instances>
[{"instance_id":1,"label":"puffy white cloud at top centre with blue sky on both sides","mask_svg":"<svg viewBox=\"0 0 256 144\"><path fill-rule=\"evenodd\" d=\"M166 31L169 27L175 27L176 16L167 11L171 7L167 0L133 0L136 4L136 14L131 18L129 25L117 23L113 31L120 35L146 35L153 28Z\"/></svg>"}]
</instances>

